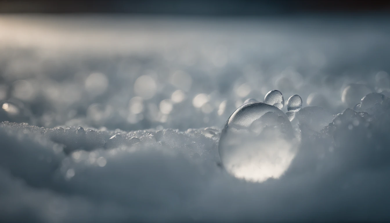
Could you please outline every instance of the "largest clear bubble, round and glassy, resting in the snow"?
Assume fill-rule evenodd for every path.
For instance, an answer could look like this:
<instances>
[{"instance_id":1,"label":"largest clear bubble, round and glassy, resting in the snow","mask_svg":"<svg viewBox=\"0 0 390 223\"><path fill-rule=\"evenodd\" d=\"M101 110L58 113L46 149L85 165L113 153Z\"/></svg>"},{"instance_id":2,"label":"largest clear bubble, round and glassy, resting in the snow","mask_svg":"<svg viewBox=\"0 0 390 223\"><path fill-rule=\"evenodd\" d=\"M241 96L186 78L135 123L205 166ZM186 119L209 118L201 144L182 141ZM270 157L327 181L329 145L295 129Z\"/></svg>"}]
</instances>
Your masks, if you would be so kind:
<instances>
[{"instance_id":1,"label":"largest clear bubble, round and glassy, resting in the snow","mask_svg":"<svg viewBox=\"0 0 390 223\"><path fill-rule=\"evenodd\" d=\"M280 177L288 168L296 153L292 138L291 123L280 109L246 103L226 122L218 151L228 173L262 182Z\"/></svg>"}]
</instances>

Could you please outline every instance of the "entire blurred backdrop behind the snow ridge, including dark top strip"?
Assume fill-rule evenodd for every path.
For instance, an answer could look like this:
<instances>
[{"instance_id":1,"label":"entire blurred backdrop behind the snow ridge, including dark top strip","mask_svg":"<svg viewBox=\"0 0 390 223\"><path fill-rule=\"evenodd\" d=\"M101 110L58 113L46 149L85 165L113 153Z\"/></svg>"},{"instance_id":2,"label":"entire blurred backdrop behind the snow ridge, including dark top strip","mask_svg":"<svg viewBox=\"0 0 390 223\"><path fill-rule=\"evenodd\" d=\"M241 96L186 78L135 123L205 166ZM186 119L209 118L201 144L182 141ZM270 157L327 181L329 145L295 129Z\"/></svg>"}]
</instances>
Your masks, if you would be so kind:
<instances>
[{"instance_id":1,"label":"entire blurred backdrop behind the snow ridge, including dark top strip","mask_svg":"<svg viewBox=\"0 0 390 223\"><path fill-rule=\"evenodd\" d=\"M369 92L390 96L389 11L388 1L0 0L0 121L219 128L273 89L337 114ZM349 84L359 87L342 100Z\"/></svg>"}]
</instances>

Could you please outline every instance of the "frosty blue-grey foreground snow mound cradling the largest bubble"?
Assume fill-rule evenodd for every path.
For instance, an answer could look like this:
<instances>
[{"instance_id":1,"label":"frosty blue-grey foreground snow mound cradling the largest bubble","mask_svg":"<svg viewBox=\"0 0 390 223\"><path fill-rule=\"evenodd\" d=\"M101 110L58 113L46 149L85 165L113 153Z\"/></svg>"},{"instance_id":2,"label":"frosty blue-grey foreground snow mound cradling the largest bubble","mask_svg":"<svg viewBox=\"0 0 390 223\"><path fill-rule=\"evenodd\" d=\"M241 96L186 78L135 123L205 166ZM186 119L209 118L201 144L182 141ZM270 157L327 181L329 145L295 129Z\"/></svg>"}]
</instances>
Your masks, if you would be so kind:
<instances>
[{"instance_id":1,"label":"frosty blue-grey foreground snow mound cradling the largest bubble","mask_svg":"<svg viewBox=\"0 0 390 223\"><path fill-rule=\"evenodd\" d=\"M102 131L106 146L87 151L80 148L94 142L80 129L58 133L5 122L0 216L61 223L388 221L389 107L389 100L377 104L375 116L347 109L319 134L303 137L285 174L263 183L234 178L218 165L213 128L120 132L112 139L117 132Z\"/></svg>"}]
</instances>

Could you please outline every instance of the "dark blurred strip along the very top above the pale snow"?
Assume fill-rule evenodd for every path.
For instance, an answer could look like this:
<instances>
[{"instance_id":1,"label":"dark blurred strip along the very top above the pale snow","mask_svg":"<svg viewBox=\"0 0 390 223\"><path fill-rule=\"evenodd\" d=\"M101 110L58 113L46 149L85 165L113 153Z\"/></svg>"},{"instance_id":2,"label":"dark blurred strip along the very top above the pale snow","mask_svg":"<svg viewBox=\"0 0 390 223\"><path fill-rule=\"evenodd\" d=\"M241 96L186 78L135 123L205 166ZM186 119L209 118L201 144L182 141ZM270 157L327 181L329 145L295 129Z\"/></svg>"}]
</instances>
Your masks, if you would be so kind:
<instances>
[{"instance_id":1,"label":"dark blurred strip along the very top above the pale snow","mask_svg":"<svg viewBox=\"0 0 390 223\"><path fill-rule=\"evenodd\" d=\"M390 1L354 0L0 0L0 12L283 15L383 13Z\"/></svg>"}]
</instances>

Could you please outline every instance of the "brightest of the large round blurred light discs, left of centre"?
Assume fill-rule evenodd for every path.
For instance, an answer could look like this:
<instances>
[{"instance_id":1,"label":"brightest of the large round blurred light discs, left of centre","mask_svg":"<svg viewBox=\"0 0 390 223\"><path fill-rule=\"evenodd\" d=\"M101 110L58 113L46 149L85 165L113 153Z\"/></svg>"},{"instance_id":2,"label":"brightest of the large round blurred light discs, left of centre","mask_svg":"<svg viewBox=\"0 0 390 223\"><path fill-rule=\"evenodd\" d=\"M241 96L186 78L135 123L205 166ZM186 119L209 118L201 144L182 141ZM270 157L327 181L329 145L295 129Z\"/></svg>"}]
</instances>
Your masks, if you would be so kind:
<instances>
[{"instance_id":1,"label":"brightest of the large round blurred light discs, left of centre","mask_svg":"<svg viewBox=\"0 0 390 223\"><path fill-rule=\"evenodd\" d=\"M156 91L156 81L149 75L142 75L134 82L134 92L144 99L151 99Z\"/></svg>"}]
</instances>

